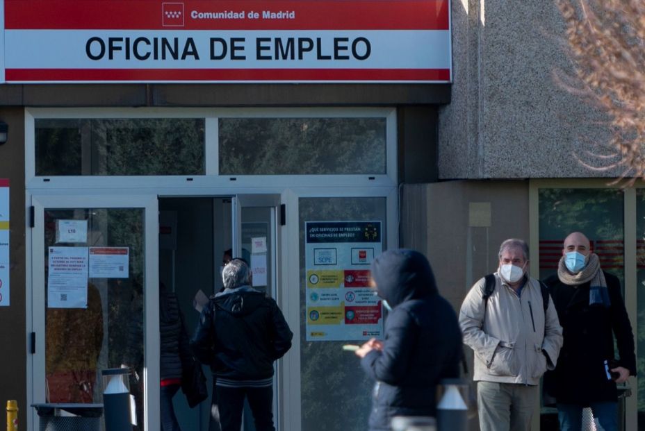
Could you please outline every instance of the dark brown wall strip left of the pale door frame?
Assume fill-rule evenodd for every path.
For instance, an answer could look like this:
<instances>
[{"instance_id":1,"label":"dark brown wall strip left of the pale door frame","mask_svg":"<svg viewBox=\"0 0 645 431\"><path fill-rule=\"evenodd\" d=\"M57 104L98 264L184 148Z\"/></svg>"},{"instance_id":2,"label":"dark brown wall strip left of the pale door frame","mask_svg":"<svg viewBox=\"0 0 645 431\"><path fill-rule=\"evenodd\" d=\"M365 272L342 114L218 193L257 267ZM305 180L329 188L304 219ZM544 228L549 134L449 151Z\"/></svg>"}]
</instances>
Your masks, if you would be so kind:
<instances>
[{"instance_id":1,"label":"dark brown wall strip left of the pale door frame","mask_svg":"<svg viewBox=\"0 0 645 431\"><path fill-rule=\"evenodd\" d=\"M0 406L17 400L18 420L26 424L25 188L24 115L22 108L0 108L9 139L0 145L0 178L9 178L10 306L0 307ZM2 421L4 423L4 421ZM21 425L23 426L23 425Z\"/></svg>"}]
</instances>

